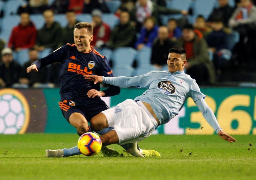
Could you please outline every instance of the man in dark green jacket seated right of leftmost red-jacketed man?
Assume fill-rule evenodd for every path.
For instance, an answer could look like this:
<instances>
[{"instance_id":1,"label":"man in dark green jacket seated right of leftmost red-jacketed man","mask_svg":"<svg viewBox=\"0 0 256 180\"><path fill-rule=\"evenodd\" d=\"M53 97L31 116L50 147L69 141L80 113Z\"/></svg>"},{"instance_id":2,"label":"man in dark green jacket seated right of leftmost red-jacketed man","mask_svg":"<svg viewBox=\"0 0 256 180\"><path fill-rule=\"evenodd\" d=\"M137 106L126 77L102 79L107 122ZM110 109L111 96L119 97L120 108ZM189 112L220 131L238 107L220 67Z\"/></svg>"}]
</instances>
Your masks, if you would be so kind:
<instances>
[{"instance_id":1,"label":"man in dark green jacket seated right of leftmost red-jacketed man","mask_svg":"<svg viewBox=\"0 0 256 180\"><path fill-rule=\"evenodd\" d=\"M62 29L58 22L54 21L53 11L46 10L43 13L45 24L38 31L35 48L38 51L44 48L57 49L62 44Z\"/></svg>"}]
</instances>

